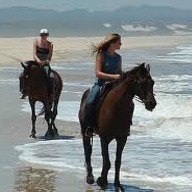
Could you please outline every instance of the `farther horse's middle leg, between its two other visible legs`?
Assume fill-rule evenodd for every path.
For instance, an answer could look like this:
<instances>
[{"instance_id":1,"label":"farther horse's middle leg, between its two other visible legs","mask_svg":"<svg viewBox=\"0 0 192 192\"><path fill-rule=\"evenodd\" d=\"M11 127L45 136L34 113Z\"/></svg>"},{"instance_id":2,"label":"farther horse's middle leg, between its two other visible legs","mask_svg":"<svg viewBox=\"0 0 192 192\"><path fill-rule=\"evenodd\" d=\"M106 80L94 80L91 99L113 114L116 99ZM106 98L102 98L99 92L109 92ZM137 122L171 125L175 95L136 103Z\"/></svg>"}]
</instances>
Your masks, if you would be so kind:
<instances>
[{"instance_id":1,"label":"farther horse's middle leg, between its two other visible legs","mask_svg":"<svg viewBox=\"0 0 192 192\"><path fill-rule=\"evenodd\" d=\"M45 134L45 137L54 137L54 133L53 133L53 129L52 129L52 124L51 124L51 105L46 102L44 103L44 107L45 107L45 120L47 122L47 132Z\"/></svg>"}]
</instances>

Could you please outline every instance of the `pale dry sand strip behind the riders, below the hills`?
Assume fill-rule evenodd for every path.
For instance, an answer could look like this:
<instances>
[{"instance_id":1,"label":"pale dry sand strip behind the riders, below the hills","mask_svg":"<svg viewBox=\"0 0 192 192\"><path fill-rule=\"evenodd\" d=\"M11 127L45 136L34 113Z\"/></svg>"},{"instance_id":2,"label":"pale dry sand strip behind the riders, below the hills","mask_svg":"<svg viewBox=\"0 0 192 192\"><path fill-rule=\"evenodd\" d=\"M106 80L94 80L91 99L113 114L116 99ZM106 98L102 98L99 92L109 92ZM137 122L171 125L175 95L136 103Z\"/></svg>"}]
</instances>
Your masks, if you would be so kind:
<instances>
[{"instance_id":1,"label":"pale dry sand strip behind the riders, below the hills","mask_svg":"<svg viewBox=\"0 0 192 192\"><path fill-rule=\"evenodd\" d=\"M20 61L32 59L32 45L36 37L0 38L0 66L17 66ZM90 59L90 47L103 37L52 38L54 43L54 61L73 60L83 55ZM122 49L154 48L182 45L191 42L192 36L139 36L122 37Z\"/></svg>"}]
</instances>

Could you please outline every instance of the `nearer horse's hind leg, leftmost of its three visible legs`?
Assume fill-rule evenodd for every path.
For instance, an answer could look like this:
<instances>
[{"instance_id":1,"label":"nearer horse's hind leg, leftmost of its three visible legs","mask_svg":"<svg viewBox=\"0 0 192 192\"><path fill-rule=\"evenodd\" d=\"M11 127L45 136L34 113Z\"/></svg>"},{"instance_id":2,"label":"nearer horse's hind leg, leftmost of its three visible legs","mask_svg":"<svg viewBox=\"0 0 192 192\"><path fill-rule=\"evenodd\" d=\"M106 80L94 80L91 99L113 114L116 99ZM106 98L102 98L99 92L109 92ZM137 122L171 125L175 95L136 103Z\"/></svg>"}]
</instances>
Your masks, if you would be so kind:
<instances>
[{"instance_id":1,"label":"nearer horse's hind leg, leftmost of its three visible legs","mask_svg":"<svg viewBox=\"0 0 192 192\"><path fill-rule=\"evenodd\" d=\"M95 182L93 176L93 168L91 165L91 155L92 155L92 143L89 137L85 137L83 135L83 148L84 148L84 155L85 155L85 163L86 163L86 182L88 184L93 184Z\"/></svg>"}]
</instances>

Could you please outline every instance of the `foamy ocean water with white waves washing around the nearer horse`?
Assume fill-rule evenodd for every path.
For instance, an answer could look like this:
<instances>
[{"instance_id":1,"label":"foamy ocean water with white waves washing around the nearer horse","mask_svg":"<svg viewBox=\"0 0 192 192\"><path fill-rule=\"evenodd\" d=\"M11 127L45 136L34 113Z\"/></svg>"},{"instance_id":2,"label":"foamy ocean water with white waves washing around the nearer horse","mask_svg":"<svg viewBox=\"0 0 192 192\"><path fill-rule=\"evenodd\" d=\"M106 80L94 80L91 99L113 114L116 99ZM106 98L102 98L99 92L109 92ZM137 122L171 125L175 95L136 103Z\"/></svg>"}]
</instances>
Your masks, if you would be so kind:
<instances>
[{"instance_id":1,"label":"foamy ocean water with white waves washing around the nearer horse","mask_svg":"<svg viewBox=\"0 0 192 192\"><path fill-rule=\"evenodd\" d=\"M123 152L121 181L124 185L152 191L192 191L192 46L177 46L163 50L122 50L124 69L137 62L151 63L155 80L157 106L153 112L135 102L131 136ZM138 58L138 59L137 59ZM73 61L58 66L65 78L58 119L78 122L82 92L91 86L93 76L72 78L93 72L93 63ZM77 70L79 69L79 70ZM10 72L11 73L11 72ZM3 83L3 77L0 77ZM12 78L10 75L10 81ZM22 110L30 112L24 102ZM112 168L109 182L114 178L115 142L110 145ZM94 138L93 168L100 176L101 155L99 138ZM58 171L71 170L85 176L82 141L37 141L16 146L20 160ZM138 190L139 191L139 190Z\"/></svg>"}]
</instances>

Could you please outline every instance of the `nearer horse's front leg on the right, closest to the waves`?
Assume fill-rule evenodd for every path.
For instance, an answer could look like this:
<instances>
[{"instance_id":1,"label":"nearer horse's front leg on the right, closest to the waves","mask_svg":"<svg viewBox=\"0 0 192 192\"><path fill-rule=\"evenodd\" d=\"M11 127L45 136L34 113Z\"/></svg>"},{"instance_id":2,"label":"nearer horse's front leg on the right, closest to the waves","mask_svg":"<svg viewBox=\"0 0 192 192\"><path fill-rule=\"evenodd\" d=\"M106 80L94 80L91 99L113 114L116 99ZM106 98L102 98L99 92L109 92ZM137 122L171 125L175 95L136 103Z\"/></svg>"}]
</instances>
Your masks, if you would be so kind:
<instances>
[{"instance_id":1,"label":"nearer horse's front leg on the right, closest to the waves","mask_svg":"<svg viewBox=\"0 0 192 192\"><path fill-rule=\"evenodd\" d=\"M121 191L123 191L124 189L120 184L119 174L120 174L120 168L121 168L122 152L123 152L124 146L127 142L127 137L116 139L116 141L117 141L117 150L116 150L116 160L115 160L114 186L116 189L118 189L118 190L120 189Z\"/></svg>"}]
</instances>

